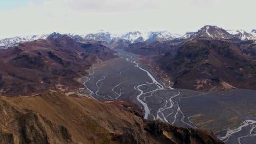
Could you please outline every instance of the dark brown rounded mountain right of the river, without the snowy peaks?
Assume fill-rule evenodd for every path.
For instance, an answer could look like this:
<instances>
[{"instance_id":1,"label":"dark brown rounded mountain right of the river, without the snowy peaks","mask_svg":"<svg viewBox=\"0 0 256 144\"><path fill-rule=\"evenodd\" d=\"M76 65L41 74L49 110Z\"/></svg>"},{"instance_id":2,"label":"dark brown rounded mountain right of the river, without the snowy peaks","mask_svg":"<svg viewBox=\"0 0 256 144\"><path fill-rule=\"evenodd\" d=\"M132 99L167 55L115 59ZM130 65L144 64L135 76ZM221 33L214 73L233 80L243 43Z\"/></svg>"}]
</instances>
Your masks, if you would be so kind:
<instances>
[{"instance_id":1,"label":"dark brown rounded mountain right of the river, without the snowy peaks","mask_svg":"<svg viewBox=\"0 0 256 144\"><path fill-rule=\"evenodd\" d=\"M158 61L173 78L174 87L191 90L256 89L256 65L230 42L193 39L172 57Z\"/></svg>"}]
</instances>

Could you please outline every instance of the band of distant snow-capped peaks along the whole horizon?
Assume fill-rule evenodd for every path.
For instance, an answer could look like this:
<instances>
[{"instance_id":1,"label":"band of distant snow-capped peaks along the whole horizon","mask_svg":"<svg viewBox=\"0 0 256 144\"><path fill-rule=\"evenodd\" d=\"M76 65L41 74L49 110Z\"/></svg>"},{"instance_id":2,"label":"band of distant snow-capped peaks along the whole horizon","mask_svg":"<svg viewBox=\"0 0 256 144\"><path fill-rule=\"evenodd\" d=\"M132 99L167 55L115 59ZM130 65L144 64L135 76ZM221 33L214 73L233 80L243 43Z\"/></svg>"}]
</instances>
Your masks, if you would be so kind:
<instances>
[{"instance_id":1,"label":"band of distant snow-capped peaks along the whole horizon","mask_svg":"<svg viewBox=\"0 0 256 144\"><path fill-rule=\"evenodd\" d=\"M35 36L16 36L0 40L0 48L9 48L19 43L34 41L37 39L46 39L51 34L35 35ZM256 30L246 32L245 30L224 30L217 26L204 26L197 32L188 32L185 35L173 34L168 31L149 31L149 32L128 32L125 34L111 34L110 32L101 31L99 33L91 33L85 35L76 35L72 33L65 34L78 41L104 41L111 43L115 39L127 40L129 44L138 42L154 42L171 39L190 39L199 37L209 37L214 39L240 39L253 40L256 39Z\"/></svg>"}]
</instances>

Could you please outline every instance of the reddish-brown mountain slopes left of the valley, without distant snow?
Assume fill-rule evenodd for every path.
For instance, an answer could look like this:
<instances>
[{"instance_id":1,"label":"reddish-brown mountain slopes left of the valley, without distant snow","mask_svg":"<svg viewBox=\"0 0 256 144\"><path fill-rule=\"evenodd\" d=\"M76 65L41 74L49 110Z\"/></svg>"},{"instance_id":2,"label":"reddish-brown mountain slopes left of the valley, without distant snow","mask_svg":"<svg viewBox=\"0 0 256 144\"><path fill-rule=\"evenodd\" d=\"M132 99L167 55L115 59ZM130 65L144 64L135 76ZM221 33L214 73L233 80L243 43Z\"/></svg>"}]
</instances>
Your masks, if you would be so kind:
<instances>
[{"instance_id":1,"label":"reddish-brown mountain slopes left of the valley, without distant snow","mask_svg":"<svg viewBox=\"0 0 256 144\"><path fill-rule=\"evenodd\" d=\"M68 36L26 42L0 50L0 94L33 95L48 90L78 90L75 79L91 64L115 58L101 43L78 43Z\"/></svg>"}]
</instances>

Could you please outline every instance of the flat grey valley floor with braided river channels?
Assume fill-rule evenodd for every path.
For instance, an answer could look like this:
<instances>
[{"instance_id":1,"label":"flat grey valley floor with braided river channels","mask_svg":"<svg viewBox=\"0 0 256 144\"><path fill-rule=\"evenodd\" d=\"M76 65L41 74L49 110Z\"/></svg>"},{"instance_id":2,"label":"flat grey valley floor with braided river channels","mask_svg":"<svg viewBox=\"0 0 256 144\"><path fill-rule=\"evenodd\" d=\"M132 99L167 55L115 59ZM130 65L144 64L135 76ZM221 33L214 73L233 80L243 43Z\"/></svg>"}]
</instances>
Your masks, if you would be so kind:
<instances>
[{"instance_id":1,"label":"flat grey valley floor with braided river channels","mask_svg":"<svg viewBox=\"0 0 256 144\"><path fill-rule=\"evenodd\" d=\"M139 63L138 55L123 51L118 55L121 58L93 65L84 80L87 90L83 93L100 101L130 100L144 110L145 119L205 128L226 144L256 141L255 90L176 90Z\"/></svg>"}]
</instances>

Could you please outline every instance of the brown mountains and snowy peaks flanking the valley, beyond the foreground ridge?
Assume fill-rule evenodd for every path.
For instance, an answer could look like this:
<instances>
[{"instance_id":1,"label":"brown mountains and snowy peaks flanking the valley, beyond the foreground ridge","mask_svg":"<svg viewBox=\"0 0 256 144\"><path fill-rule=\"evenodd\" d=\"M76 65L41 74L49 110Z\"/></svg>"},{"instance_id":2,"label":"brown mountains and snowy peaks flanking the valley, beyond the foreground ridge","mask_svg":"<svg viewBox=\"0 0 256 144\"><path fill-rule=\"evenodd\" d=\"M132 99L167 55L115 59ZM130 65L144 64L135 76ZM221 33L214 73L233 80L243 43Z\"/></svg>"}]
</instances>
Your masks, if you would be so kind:
<instances>
[{"instance_id":1,"label":"brown mountains and snowy peaks flanking the valley, beyond the foreground ridge","mask_svg":"<svg viewBox=\"0 0 256 144\"><path fill-rule=\"evenodd\" d=\"M255 32L204 26L197 32L183 36L167 31L136 31L114 37L109 32L101 31L83 36L55 32L50 35L16 37L14 40L4 39L4 44L11 43L7 47L16 46L4 49L0 54L1 65L5 70L1 72L1 81L10 76L16 80L16 84L22 81L24 85L4 82L2 91L6 94L16 94L15 90L20 88L18 91L26 94L37 90L54 90L57 82L63 81L56 75L64 79L84 75L81 69L88 69L93 63L114 58L113 48L152 57L155 65L167 72L177 88L256 89ZM179 71L175 71L177 67ZM40 76L21 75L22 73L18 72L20 68L29 69L28 72L40 71ZM199 70L203 73L196 76ZM188 78L190 82L185 82ZM24 80L27 81L26 84Z\"/></svg>"}]
</instances>

